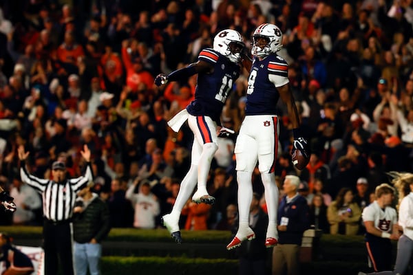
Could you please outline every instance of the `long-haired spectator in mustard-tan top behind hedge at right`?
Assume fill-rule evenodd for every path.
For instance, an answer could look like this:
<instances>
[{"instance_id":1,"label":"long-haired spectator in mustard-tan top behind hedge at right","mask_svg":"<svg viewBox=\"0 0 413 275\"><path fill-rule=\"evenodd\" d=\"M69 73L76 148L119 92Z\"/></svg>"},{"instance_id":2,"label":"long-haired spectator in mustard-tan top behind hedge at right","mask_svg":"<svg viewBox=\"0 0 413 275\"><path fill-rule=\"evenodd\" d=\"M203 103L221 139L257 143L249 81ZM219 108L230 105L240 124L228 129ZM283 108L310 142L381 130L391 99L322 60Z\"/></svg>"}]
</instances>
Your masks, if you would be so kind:
<instances>
[{"instance_id":1,"label":"long-haired spectator in mustard-tan top behind hedge at right","mask_svg":"<svg viewBox=\"0 0 413 275\"><path fill-rule=\"evenodd\" d=\"M359 231L361 210L350 188L342 188L327 209L330 234L355 235Z\"/></svg>"}]
</instances>

